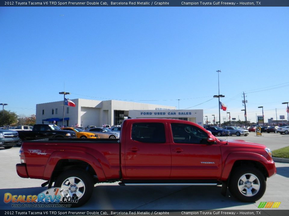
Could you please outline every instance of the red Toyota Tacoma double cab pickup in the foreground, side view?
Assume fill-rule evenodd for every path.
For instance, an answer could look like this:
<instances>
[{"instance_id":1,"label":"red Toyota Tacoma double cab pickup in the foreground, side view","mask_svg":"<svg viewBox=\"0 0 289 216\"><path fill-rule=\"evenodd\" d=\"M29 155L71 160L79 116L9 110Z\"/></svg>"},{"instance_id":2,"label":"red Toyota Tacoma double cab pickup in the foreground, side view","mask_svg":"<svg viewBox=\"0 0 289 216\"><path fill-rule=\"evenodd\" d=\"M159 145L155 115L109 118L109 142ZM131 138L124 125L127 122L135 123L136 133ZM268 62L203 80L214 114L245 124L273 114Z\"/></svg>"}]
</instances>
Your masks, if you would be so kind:
<instances>
[{"instance_id":1,"label":"red Toyota Tacoma double cab pickup in the foreground, side view","mask_svg":"<svg viewBox=\"0 0 289 216\"><path fill-rule=\"evenodd\" d=\"M237 199L253 202L276 173L270 149L244 140L220 140L192 122L175 119L127 119L120 139L47 139L24 141L22 178L48 184L77 197L83 205L96 183L220 185Z\"/></svg>"}]
</instances>

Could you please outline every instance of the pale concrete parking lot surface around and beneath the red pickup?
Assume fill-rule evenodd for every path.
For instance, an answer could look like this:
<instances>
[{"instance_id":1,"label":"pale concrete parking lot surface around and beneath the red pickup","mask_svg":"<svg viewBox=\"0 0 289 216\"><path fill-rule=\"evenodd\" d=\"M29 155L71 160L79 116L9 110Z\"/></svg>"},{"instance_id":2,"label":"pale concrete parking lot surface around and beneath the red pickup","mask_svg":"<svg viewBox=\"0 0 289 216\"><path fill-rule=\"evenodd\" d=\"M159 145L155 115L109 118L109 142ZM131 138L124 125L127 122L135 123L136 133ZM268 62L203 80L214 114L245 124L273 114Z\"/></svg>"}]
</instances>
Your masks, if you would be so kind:
<instances>
[{"instance_id":1,"label":"pale concrete parking lot surface around and beneath the red pickup","mask_svg":"<svg viewBox=\"0 0 289 216\"><path fill-rule=\"evenodd\" d=\"M218 137L226 139L227 137ZM250 133L247 137L231 136L228 139L241 139L249 142L265 144L271 150L289 145L289 135L267 134L256 136ZM17 195L33 195L41 193L46 187L39 179L20 178L15 164L20 162L19 147L0 149L1 184L0 199L4 193ZM224 209L224 210L260 210L260 202L281 202L278 209L289 209L289 164L276 163L277 174L267 179L267 189L264 196L257 202L244 203L233 198L227 191L227 196L221 195L219 186L119 186L118 183L96 184L92 198L77 209L126 209L126 210L194 210L194 209ZM0 209L13 209L11 203L0 201ZM35 208L36 209L36 208Z\"/></svg>"}]
</instances>

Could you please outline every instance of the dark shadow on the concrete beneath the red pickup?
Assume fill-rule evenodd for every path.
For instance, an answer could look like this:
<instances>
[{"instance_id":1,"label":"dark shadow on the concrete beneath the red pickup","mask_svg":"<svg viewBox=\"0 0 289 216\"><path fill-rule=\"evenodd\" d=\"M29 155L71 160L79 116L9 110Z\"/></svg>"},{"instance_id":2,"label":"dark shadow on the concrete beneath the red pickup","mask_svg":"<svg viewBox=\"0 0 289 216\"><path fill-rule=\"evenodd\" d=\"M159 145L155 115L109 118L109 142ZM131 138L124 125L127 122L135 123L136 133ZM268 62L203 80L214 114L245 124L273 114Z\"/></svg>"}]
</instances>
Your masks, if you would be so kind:
<instances>
[{"instance_id":1,"label":"dark shadow on the concrete beneath the red pickup","mask_svg":"<svg viewBox=\"0 0 289 216\"><path fill-rule=\"evenodd\" d=\"M0 197L5 193L12 195L38 195L47 187L8 188L0 189ZM21 210L27 208L13 208L12 203L0 202L0 209ZM20 204L20 203L18 203ZM21 203L22 204L22 203ZM119 186L98 184L93 189L89 201L71 210L194 210L221 209L238 206L238 209L248 209L247 205L227 196L221 195L221 187L216 186ZM252 207L251 207L252 208ZM254 208L256 208L254 206ZM43 210L51 208L29 208ZM68 208L59 208L68 209Z\"/></svg>"}]
</instances>

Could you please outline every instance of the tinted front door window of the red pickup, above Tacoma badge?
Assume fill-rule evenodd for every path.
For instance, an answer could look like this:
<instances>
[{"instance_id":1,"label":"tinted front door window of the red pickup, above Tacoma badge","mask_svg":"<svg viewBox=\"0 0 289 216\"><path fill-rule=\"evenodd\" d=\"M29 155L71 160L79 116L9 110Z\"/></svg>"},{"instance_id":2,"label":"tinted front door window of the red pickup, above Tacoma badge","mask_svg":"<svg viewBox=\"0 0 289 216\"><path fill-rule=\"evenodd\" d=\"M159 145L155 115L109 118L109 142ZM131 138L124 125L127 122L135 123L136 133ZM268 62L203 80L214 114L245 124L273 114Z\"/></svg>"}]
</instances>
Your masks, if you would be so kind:
<instances>
[{"instance_id":1,"label":"tinted front door window of the red pickup, above Tacoma badge","mask_svg":"<svg viewBox=\"0 0 289 216\"><path fill-rule=\"evenodd\" d=\"M207 143L208 134L193 125L172 123L171 129L174 143Z\"/></svg>"}]
</instances>

